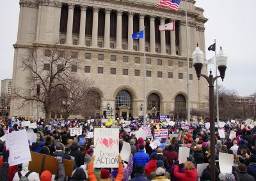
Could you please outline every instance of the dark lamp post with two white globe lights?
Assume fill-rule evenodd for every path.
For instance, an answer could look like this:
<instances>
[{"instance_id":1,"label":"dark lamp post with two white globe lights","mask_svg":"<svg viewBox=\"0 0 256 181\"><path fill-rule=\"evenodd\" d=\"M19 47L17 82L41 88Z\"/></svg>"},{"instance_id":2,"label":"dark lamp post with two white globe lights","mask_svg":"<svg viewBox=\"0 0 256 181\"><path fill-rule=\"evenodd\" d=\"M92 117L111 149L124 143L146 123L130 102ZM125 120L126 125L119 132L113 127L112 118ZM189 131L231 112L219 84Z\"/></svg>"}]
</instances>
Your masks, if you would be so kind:
<instances>
[{"instance_id":1,"label":"dark lamp post with two white globe lights","mask_svg":"<svg viewBox=\"0 0 256 181\"><path fill-rule=\"evenodd\" d=\"M211 143L211 158L210 158L210 171L211 171L211 180L215 180L215 119L214 119L214 82L217 78L221 78L222 81L225 77L225 71L227 69L227 55L223 52L220 47L220 53L216 57L218 70L220 71L219 76L212 76L212 71L210 70L210 75L201 74L201 70L204 62L204 53L196 45L196 49L192 54L193 64L195 67L196 75L198 80L200 76L203 76L209 85L209 113L210 113L210 143ZM214 154L212 154L214 153Z\"/></svg>"}]
</instances>

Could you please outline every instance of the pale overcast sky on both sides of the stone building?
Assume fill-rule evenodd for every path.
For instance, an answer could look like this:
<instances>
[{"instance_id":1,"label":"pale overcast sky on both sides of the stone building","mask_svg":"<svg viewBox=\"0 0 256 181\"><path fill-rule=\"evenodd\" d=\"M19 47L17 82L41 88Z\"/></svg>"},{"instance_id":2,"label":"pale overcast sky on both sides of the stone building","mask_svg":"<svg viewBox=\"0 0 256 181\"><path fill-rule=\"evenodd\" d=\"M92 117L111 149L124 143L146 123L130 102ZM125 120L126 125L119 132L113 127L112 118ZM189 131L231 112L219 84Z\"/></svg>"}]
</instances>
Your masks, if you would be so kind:
<instances>
[{"instance_id":1,"label":"pale overcast sky on both sides of the stone building","mask_svg":"<svg viewBox=\"0 0 256 181\"><path fill-rule=\"evenodd\" d=\"M0 11L0 80L12 78L13 43L17 40L19 1L3 1ZM242 4L243 3L243 4ZM241 96L256 91L256 1L255 0L197 0L196 6L204 8L205 47L217 40L228 55L228 68L221 85L236 90ZM254 50L255 49L255 50ZM209 59L214 52L206 51ZM254 56L254 57L253 57ZM209 66L214 69L214 66Z\"/></svg>"}]
</instances>

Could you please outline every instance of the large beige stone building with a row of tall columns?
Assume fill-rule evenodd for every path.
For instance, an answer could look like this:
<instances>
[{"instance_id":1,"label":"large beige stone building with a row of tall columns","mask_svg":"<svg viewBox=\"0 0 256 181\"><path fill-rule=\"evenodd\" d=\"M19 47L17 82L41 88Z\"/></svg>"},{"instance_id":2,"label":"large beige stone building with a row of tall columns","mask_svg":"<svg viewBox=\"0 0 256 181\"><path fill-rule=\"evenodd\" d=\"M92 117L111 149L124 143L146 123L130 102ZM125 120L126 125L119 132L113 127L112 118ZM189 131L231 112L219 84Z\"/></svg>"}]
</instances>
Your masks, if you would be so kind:
<instances>
[{"instance_id":1,"label":"large beige stone building with a row of tall columns","mask_svg":"<svg viewBox=\"0 0 256 181\"><path fill-rule=\"evenodd\" d=\"M92 78L100 95L99 115L138 117L143 114L143 51L146 51L146 107L148 115L169 115L175 107L186 107L187 62L184 1L179 11L156 8L159 0L20 0L19 30L14 45L13 89L26 88L28 71L21 71L22 57L36 46L42 54L59 42L67 46L82 66L77 76ZM190 107L207 105L207 82L198 80L191 54L196 42L205 51L202 8L188 0L188 44ZM175 31L159 31L159 25L175 21ZM143 30L144 40L131 34ZM204 66L202 73L207 74ZM35 88L36 89L36 88ZM31 103L11 116L36 117ZM152 108L156 110L152 110ZM112 111L113 110L113 111ZM52 115L52 117L60 117Z\"/></svg>"}]
</instances>

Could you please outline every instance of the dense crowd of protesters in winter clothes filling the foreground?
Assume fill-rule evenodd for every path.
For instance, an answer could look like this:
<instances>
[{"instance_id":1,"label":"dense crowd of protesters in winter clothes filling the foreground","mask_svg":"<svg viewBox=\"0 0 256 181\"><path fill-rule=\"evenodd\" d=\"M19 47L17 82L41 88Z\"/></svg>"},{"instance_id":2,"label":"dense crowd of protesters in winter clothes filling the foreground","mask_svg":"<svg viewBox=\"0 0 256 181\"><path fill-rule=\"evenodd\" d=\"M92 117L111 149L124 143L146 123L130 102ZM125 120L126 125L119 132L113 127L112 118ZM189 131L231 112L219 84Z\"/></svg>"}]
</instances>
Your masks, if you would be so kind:
<instances>
[{"instance_id":1,"label":"dense crowd of protesters in winter clothes filling the foreground","mask_svg":"<svg viewBox=\"0 0 256 181\"><path fill-rule=\"evenodd\" d=\"M0 137L8 130L19 131L28 127L21 127L23 118L15 120L2 120L0 126ZM24 121L24 120L23 120ZM31 122L33 122L31 120ZM210 140L209 129L204 123L193 122L193 124L182 129L180 122L170 126L166 122L157 120L150 125L152 138L143 140L129 133L140 129L142 121L132 120L130 124L122 125L121 122L113 123L120 127L119 150L125 142L131 145L129 161L125 162L118 156L118 168L94 168L93 162L93 138L85 138L88 131L93 132L94 127L111 127L106 123L84 122L81 120L51 120L45 124L44 120L36 120L37 128L33 129L37 135L35 143L30 144L30 150L40 154L56 157L58 172L56 175L48 170L36 173L28 170L29 163L15 166L8 165L9 151L6 150L4 142L0 141L0 180L132 180L132 181L165 181L165 180L211 180L210 167L207 166L198 176L197 164L209 163L211 157L211 141L215 143L216 158L216 180L255 180L256 179L256 127L244 126L241 122L229 123L224 127L216 127L215 140ZM115 127L116 127L115 126ZM49 129L51 127L51 129ZM82 127L83 134L70 136L71 127ZM150 147L154 141L154 130L166 128L170 134L178 134L172 139L162 138L157 148ZM225 130L225 138L220 138L218 129ZM230 139L230 131L236 131L236 137ZM82 143L81 138L85 138ZM190 148L188 161L179 163L179 147ZM220 173L218 158L220 152L234 155L234 166L232 173ZM75 166L71 177L66 177L63 159L74 160Z\"/></svg>"}]
</instances>

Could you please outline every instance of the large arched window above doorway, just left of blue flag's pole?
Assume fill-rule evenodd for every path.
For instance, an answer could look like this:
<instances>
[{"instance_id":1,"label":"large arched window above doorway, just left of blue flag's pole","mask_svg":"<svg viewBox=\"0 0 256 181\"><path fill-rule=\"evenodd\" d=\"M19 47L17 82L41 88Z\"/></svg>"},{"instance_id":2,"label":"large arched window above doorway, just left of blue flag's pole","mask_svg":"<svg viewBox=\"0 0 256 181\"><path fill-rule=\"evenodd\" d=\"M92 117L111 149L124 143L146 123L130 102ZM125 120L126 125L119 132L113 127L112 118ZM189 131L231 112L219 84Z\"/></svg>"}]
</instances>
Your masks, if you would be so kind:
<instances>
[{"instance_id":1,"label":"large arched window above doorway, just left of blue flag's pole","mask_svg":"<svg viewBox=\"0 0 256 181\"><path fill-rule=\"evenodd\" d=\"M129 106L130 110L132 107L132 96L127 91L119 91L116 94L116 110L119 110L119 107L122 105Z\"/></svg>"}]
</instances>

